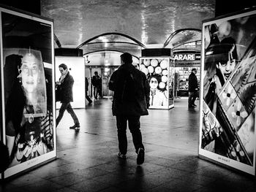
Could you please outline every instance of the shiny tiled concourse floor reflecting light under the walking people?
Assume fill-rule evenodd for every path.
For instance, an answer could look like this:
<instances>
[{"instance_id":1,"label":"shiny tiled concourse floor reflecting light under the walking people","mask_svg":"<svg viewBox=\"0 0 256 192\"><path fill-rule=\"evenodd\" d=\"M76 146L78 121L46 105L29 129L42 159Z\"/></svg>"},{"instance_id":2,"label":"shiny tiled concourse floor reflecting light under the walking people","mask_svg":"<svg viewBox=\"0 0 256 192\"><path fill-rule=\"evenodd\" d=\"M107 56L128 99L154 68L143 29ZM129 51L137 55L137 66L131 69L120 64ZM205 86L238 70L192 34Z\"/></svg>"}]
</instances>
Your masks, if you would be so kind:
<instances>
[{"instance_id":1,"label":"shiny tiled concourse floor reflecting light under the walking people","mask_svg":"<svg viewBox=\"0 0 256 192\"><path fill-rule=\"evenodd\" d=\"M57 128L58 158L2 183L0 191L256 191L254 177L198 158L199 110L188 110L187 99L141 118L146 147L141 166L129 131L128 158L117 158L110 99L75 112L80 132L69 130L72 118L66 112Z\"/></svg>"}]
</instances>

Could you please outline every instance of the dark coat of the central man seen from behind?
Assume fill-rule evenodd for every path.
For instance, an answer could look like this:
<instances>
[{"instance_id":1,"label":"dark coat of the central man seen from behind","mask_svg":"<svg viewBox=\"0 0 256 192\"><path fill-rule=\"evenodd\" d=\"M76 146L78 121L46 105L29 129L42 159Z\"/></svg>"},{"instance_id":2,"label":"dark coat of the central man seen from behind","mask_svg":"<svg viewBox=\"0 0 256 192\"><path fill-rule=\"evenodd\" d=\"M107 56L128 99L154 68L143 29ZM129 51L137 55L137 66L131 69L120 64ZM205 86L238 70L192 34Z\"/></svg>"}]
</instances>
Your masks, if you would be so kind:
<instances>
[{"instance_id":1,"label":"dark coat of the central man seen from behind","mask_svg":"<svg viewBox=\"0 0 256 192\"><path fill-rule=\"evenodd\" d=\"M134 99L124 99L124 84L132 74ZM148 115L150 86L146 75L132 64L121 65L110 77L109 89L114 91L113 115Z\"/></svg>"}]
</instances>

